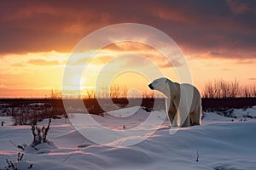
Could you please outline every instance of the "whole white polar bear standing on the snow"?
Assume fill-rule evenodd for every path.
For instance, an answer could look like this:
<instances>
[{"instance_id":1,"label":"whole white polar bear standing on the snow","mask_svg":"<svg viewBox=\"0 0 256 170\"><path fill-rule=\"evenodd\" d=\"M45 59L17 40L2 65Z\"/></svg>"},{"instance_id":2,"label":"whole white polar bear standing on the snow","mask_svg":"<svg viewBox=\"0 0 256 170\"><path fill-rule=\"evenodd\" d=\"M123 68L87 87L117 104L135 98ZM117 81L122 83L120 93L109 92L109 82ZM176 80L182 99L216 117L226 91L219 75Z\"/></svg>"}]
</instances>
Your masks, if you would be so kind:
<instances>
[{"instance_id":1,"label":"whole white polar bear standing on the snow","mask_svg":"<svg viewBox=\"0 0 256 170\"><path fill-rule=\"evenodd\" d=\"M173 127L188 127L201 124L201 94L195 86L172 82L162 77L148 87L166 95L166 115Z\"/></svg>"}]
</instances>

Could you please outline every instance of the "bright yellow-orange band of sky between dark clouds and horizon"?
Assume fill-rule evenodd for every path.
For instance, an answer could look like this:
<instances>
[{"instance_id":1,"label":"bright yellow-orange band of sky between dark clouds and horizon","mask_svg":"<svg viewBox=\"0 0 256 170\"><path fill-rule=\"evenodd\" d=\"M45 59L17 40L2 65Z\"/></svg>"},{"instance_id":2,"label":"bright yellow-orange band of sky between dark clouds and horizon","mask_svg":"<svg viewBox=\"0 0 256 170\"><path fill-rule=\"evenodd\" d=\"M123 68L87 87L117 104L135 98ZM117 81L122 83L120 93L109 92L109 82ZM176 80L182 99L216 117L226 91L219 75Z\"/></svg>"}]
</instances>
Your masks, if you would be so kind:
<instances>
[{"instance_id":1,"label":"bright yellow-orange band of sky between dark clouds and horizon","mask_svg":"<svg viewBox=\"0 0 256 170\"><path fill-rule=\"evenodd\" d=\"M44 98L49 96L52 89L61 90L63 71L66 66L71 66L67 65L69 55L55 51L2 55L0 59L0 97ZM241 85L255 85L256 81L252 75L255 59L243 63L238 59L222 59L222 62L219 62L219 59L214 59L209 54L202 56L192 56L187 59L193 83L201 91L206 82L218 78L228 81L237 79ZM120 88L136 88L143 93L148 93L148 82L152 81L154 77L160 76L155 73L154 67L160 68L163 71L163 76L174 82L179 81L175 68L172 68L172 65L165 65L166 61L159 52L143 44L131 45L127 42L112 44L102 48L88 63L84 62L86 57L88 57L87 54L78 54L78 60L73 61L73 65L84 66L84 63L86 64L82 76L70 77L71 85L78 85L82 95L86 93L86 90L113 84ZM147 77L147 75L149 76ZM102 82L100 81L101 85L96 87L98 79L102 79ZM111 79L110 82L109 79ZM74 94L77 95L77 93Z\"/></svg>"}]
</instances>

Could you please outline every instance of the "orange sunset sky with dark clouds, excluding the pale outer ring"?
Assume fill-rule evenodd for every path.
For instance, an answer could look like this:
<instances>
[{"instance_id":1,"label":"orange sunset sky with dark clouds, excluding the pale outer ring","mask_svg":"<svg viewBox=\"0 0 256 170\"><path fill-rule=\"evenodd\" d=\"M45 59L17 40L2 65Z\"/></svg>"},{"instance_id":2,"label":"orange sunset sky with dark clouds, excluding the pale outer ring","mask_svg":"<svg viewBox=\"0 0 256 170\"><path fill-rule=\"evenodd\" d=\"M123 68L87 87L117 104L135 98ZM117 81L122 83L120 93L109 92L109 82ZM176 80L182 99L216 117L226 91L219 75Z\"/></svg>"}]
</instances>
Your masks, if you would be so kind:
<instances>
[{"instance_id":1,"label":"orange sunset sky with dark clouds, excluding the pale outer ring","mask_svg":"<svg viewBox=\"0 0 256 170\"><path fill-rule=\"evenodd\" d=\"M51 89L61 89L73 48L91 32L119 23L153 26L172 37L201 91L206 82L219 78L256 84L256 1L106 2L1 1L0 98L45 97ZM113 58L120 54L125 57ZM113 71L140 68L154 74L150 62L178 81L175 68L160 55L139 43L111 44L90 61L86 74L73 77L74 83L79 79L83 88L94 88L107 64ZM152 81L132 71L112 78L126 88L147 89Z\"/></svg>"}]
</instances>

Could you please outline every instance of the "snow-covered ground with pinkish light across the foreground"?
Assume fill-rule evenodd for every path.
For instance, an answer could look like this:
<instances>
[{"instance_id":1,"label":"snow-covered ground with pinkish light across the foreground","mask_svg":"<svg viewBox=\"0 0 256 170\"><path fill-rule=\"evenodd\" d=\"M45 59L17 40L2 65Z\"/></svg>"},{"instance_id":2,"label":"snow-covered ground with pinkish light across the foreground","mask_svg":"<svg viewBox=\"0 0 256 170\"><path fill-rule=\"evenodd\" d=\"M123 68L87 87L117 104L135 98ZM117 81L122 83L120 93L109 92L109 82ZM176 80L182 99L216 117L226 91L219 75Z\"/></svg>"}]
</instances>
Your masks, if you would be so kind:
<instances>
[{"instance_id":1,"label":"snow-covered ground with pinkish light across the foreground","mask_svg":"<svg viewBox=\"0 0 256 170\"><path fill-rule=\"evenodd\" d=\"M148 120L149 115L155 115L152 118L163 123L160 126L144 126L147 129L142 129L140 125ZM125 142L139 139L140 136L129 133L129 138L113 141L112 146L117 144L119 147L93 143L84 138L67 118L55 119L49 129L48 139L51 142L41 144L38 150L28 146L24 152L15 145L32 143L31 127L12 126L12 118L3 116L0 117L0 122L5 122L0 127L0 169L8 166L6 159L17 161L19 152L24 153L24 156L16 165L22 170L28 167L37 170L256 169L256 106L234 109L232 117L222 116L217 111L204 112L203 115L201 126L173 130L168 127L164 111L150 113L141 107L111 111L103 117L92 116L95 122L111 129L111 132L154 132L133 145ZM81 114L70 117L75 119L79 116ZM38 126L47 123L48 120L44 120ZM99 136L99 139L108 139L113 134L99 133L97 126L89 125L86 124L86 130L95 132L94 135ZM136 128L138 126L139 129Z\"/></svg>"}]
</instances>

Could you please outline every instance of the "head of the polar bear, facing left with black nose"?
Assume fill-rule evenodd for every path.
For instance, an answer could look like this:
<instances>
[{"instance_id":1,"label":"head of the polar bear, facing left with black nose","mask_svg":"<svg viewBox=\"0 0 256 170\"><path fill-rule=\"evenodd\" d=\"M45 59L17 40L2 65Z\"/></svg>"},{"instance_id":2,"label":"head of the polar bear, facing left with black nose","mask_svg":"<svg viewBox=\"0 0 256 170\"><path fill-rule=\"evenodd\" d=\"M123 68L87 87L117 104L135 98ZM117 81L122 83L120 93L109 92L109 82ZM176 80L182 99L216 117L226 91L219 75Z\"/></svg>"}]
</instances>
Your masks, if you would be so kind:
<instances>
[{"instance_id":1,"label":"head of the polar bear, facing left with black nose","mask_svg":"<svg viewBox=\"0 0 256 170\"><path fill-rule=\"evenodd\" d=\"M152 90L158 90L161 93L165 94L166 96L170 95L170 85L171 82L169 79L162 77L159 79L155 79L153 82L148 84L148 87Z\"/></svg>"}]
</instances>

